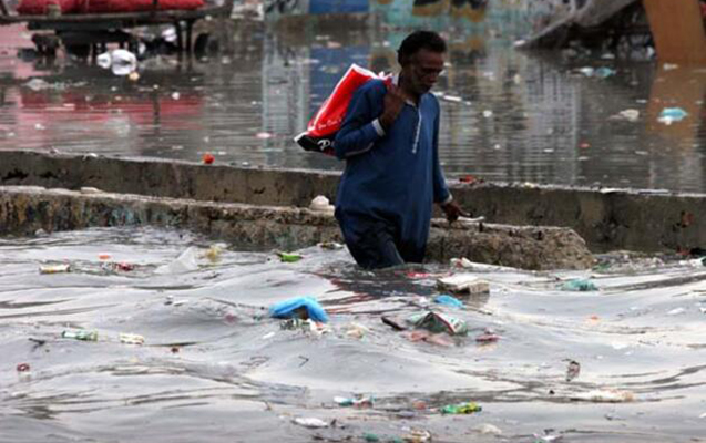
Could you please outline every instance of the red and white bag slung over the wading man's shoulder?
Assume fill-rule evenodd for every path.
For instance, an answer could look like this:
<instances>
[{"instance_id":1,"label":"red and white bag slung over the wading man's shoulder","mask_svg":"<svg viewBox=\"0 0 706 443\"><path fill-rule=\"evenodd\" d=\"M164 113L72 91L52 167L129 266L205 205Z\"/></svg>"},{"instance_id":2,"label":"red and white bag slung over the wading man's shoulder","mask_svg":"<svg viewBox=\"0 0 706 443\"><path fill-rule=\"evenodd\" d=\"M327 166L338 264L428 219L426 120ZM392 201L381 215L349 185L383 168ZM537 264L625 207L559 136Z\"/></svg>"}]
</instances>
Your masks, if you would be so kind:
<instances>
[{"instance_id":1,"label":"red and white bag slung over the wading man's shoulder","mask_svg":"<svg viewBox=\"0 0 706 443\"><path fill-rule=\"evenodd\" d=\"M368 81L381 79L391 81L391 75L376 74L357 64L351 64L344 76L338 81L331 95L326 99L317 113L309 121L307 130L294 137L305 151L335 155L334 140L340 125L346 119L346 111L356 90Z\"/></svg>"}]
</instances>

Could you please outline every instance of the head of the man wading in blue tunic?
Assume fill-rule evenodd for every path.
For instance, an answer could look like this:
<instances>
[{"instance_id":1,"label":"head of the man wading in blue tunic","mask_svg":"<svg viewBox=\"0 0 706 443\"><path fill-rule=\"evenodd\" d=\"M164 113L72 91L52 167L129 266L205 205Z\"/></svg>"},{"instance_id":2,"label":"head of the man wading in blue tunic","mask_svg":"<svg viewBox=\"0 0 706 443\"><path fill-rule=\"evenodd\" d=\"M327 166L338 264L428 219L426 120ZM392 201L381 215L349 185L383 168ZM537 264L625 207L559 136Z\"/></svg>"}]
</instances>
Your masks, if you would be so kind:
<instances>
[{"instance_id":1,"label":"head of the man wading in blue tunic","mask_svg":"<svg viewBox=\"0 0 706 443\"><path fill-rule=\"evenodd\" d=\"M415 31L407 35L397 51L397 61L410 92L421 95L431 90L443 71L446 52L447 43L436 32Z\"/></svg>"}]
</instances>

